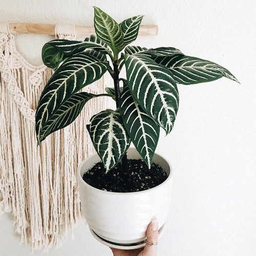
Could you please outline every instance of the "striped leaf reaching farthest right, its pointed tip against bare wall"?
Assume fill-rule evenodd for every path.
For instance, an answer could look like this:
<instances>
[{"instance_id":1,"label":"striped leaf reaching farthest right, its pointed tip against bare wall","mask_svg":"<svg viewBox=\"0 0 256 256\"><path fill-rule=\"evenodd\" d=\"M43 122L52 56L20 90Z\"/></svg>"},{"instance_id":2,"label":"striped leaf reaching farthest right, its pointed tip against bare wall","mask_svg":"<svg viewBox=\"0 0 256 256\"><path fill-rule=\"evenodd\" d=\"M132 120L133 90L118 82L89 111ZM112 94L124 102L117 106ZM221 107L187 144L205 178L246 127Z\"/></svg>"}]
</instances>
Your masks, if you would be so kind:
<instances>
[{"instance_id":1,"label":"striped leaf reaching farthest right, its pointed tip against bare wall","mask_svg":"<svg viewBox=\"0 0 256 256\"><path fill-rule=\"evenodd\" d=\"M155 61L167 67L173 73L177 83L195 84L210 82L223 76L239 82L236 77L222 66L196 57L176 55L172 57L155 58Z\"/></svg>"}]
</instances>

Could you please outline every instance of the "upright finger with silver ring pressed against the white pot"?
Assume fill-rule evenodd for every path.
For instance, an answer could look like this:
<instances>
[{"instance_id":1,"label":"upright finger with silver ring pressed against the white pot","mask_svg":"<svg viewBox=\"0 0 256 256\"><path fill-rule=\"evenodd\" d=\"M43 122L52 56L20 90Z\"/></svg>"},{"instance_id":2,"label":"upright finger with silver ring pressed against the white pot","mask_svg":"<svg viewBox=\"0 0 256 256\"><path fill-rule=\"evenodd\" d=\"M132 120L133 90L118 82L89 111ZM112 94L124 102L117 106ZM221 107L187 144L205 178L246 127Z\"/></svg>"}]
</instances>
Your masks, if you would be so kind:
<instances>
[{"instance_id":1,"label":"upright finger with silver ring pressed against the white pot","mask_svg":"<svg viewBox=\"0 0 256 256\"><path fill-rule=\"evenodd\" d=\"M146 241L148 243L158 242L158 220L154 220L148 225L146 230ZM145 245L143 250L144 256L157 256L157 246Z\"/></svg>"}]
</instances>

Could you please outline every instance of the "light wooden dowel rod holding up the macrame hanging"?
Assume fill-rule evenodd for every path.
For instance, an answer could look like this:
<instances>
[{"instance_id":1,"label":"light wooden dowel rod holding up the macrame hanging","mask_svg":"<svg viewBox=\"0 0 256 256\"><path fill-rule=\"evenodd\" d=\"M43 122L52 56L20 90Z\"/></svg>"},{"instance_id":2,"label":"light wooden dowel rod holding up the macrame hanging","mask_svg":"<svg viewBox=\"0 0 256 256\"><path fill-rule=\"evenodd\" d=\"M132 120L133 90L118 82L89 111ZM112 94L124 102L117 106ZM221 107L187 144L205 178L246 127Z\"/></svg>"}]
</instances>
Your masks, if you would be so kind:
<instances>
[{"instance_id":1,"label":"light wooden dowel rod holding up the macrame hanging","mask_svg":"<svg viewBox=\"0 0 256 256\"><path fill-rule=\"evenodd\" d=\"M55 25L50 24L31 24L31 23L11 23L9 30L12 34L43 34L55 35ZM75 26L76 35L90 36L95 34L94 27ZM140 26L138 36L154 36L158 34L158 26Z\"/></svg>"}]
</instances>

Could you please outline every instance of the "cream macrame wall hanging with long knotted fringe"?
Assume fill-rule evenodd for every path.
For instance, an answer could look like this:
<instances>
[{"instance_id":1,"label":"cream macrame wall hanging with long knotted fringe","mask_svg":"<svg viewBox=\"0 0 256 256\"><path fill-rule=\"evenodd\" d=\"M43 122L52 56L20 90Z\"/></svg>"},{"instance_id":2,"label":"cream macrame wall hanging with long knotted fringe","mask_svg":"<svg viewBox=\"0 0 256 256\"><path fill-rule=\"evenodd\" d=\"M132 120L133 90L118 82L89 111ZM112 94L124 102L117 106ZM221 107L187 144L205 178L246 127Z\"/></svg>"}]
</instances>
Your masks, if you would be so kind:
<instances>
[{"instance_id":1,"label":"cream macrame wall hanging with long knotted fringe","mask_svg":"<svg viewBox=\"0 0 256 256\"><path fill-rule=\"evenodd\" d=\"M37 147L35 109L53 71L28 63L11 34L0 34L0 46L0 217L12 211L21 243L48 251L82 215L77 167L94 153L86 124L108 100L90 100L71 125ZM105 74L83 91L102 93L108 80Z\"/></svg>"}]
</instances>

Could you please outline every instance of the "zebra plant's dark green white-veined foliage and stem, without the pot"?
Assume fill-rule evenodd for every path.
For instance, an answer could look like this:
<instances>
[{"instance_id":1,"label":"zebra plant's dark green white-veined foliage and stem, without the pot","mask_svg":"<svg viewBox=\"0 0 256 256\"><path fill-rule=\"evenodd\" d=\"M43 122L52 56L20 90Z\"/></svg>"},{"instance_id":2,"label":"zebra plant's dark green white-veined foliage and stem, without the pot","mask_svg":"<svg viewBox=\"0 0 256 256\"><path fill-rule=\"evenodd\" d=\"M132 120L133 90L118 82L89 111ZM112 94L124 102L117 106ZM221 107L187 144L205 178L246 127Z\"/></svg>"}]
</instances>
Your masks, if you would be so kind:
<instances>
[{"instance_id":1,"label":"zebra plant's dark green white-veined foliage and stem, without the pot","mask_svg":"<svg viewBox=\"0 0 256 256\"><path fill-rule=\"evenodd\" d=\"M109 96L115 99L116 110L94 115L87 125L106 173L121 159L125 163L131 141L150 168L160 127L166 135L173 129L179 106L177 83L209 82L223 76L238 82L220 65L186 56L173 47L127 46L136 39L142 18L138 15L118 24L94 7L96 36L84 41L52 40L43 47L42 59L55 72L36 110L38 144L72 123L87 101ZM119 78L123 66L126 79ZM113 78L114 88L106 88L106 94L98 95L79 92L106 71Z\"/></svg>"}]
</instances>

